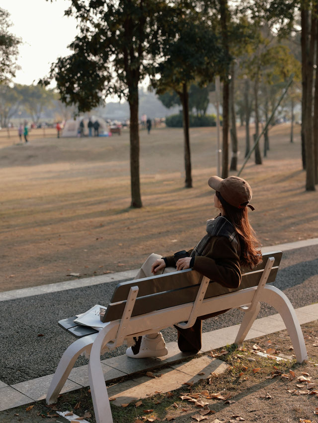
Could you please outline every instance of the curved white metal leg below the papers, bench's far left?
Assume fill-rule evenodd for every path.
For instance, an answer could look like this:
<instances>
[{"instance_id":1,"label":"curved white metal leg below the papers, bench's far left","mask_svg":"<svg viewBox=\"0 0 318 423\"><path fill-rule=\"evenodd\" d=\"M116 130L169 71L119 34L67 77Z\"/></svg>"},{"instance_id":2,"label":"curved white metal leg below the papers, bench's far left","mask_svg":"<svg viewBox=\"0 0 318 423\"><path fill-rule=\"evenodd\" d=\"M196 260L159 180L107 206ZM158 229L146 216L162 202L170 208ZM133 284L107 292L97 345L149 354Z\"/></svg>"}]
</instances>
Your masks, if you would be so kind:
<instances>
[{"instance_id":1,"label":"curved white metal leg below the papers, bench's far left","mask_svg":"<svg viewBox=\"0 0 318 423\"><path fill-rule=\"evenodd\" d=\"M61 392L66 379L68 378L70 371L72 370L74 363L83 351L89 352L97 334L88 335L83 338L77 339L71 344L63 356L61 357L60 363L55 370L53 379L51 381L47 396L47 404L55 404L59 393Z\"/></svg>"}]
</instances>

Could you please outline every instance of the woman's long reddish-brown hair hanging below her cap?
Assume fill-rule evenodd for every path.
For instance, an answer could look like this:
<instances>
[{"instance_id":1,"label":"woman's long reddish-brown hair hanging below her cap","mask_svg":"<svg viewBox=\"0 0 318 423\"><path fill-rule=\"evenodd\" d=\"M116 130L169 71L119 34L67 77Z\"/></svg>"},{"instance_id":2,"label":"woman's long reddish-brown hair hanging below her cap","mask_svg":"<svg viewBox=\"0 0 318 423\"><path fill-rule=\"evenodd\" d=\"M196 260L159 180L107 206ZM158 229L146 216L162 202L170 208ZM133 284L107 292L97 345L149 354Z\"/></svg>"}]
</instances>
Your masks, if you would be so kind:
<instances>
[{"instance_id":1,"label":"woman's long reddish-brown hair hanging below her cap","mask_svg":"<svg viewBox=\"0 0 318 423\"><path fill-rule=\"evenodd\" d=\"M238 234L240 265L250 268L256 266L262 261L262 254L260 252L260 243L248 221L247 207L239 209L232 206L222 197L219 191L216 191L216 195L222 203L225 216L232 223Z\"/></svg>"}]
</instances>

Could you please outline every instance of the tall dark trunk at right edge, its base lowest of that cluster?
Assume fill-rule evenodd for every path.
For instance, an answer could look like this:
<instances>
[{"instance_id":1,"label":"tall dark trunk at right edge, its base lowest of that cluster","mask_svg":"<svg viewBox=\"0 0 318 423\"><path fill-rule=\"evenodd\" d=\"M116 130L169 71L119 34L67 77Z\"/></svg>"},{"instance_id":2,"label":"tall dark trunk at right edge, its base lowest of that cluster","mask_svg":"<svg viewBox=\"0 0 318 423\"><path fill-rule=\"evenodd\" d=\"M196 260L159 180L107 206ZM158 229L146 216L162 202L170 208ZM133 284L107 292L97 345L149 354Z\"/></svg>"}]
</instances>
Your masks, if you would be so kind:
<instances>
[{"instance_id":1,"label":"tall dark trunk at right edge, its base lowest of that cluster","mask_svg":"<svg viewBox=\"0 0 318 423\"><path fill-rule=\"evenodd\" d=\"M307 107L305 126L305 153L306 153L306 191L315 191L315 152L313 137L313 82L314 82L314 52L316 46L317 17L312 12L311 37L309 55L307 56Z\"/></svg>"}]
</instances>

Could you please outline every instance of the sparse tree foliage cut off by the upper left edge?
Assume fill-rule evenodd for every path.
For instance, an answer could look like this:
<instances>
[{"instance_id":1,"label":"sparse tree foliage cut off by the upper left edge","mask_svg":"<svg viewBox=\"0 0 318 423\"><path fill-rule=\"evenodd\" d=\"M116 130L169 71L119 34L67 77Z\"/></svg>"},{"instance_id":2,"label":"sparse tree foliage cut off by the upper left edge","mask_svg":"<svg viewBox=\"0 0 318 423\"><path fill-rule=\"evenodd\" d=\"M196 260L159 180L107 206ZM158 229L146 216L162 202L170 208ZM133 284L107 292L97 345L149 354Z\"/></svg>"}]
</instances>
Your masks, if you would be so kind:
<instances>
[{"instance_id":1,"label":"sparse tree foliage cut off by the upper left edge","mask_svg":"<svg viewBox=\"0 0 318 423\"><path fill-rule=\"evenodd\" d=\"M9 32L9 13L0 8L0 83L15 76L15 60L21 40Z\"/></svg>"}]
</instances>

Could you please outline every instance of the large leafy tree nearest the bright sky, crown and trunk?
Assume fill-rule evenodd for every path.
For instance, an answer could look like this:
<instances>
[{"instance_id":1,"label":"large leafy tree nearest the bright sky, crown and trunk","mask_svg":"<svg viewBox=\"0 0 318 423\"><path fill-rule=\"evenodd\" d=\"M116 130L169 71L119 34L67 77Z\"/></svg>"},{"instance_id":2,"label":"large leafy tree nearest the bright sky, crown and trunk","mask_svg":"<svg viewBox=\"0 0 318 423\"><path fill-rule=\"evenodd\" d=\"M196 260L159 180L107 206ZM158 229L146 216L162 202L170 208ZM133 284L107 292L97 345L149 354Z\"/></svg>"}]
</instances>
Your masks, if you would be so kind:
<instances>
[{"instance_id":1,"label":"large leafy tree nearest the bright sky, crown and trunk","mask_svg":"<svg viewBox=\"0 0 318 423\"><path fill-rule=\"evenodd\" d=\"M131 206L142 207L139 178L138 84L162 51L175 12L164 0L72 0L79 22L73 54L52 66L61 100L89 111L116 94L130 107Z\"/></svg>"}]
</instances>

